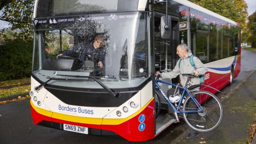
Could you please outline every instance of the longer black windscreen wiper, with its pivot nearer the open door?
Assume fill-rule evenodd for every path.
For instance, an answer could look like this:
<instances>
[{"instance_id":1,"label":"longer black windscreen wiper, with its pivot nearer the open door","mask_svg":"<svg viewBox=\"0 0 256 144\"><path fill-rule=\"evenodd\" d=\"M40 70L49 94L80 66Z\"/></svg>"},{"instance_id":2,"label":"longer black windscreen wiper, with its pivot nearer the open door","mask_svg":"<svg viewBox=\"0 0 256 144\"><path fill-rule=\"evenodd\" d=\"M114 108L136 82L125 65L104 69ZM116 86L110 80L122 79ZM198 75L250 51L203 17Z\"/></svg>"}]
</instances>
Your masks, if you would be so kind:
<instances>
[{"instance_id":1,"label":"longer black windscreen wiper, with its pivot nearer the open door","mask_svg":"<svg viewBox=\"0 0 256 144\"><path fill-rule=\"evenodd\" d=\"M102 84L100 81L98 81L96 78L98 77L93 77L93 76L82 76L82 75L60 75L60 76L69 76L69 77L75 77L75 78L91 78L94 81L96 81L101 87L103 87L107 92L111 95L114 96L115 99L118 99L121 97L120 93L115 92L114 90L111 90L104 84Z\"/></svg>"}]
</instances>

